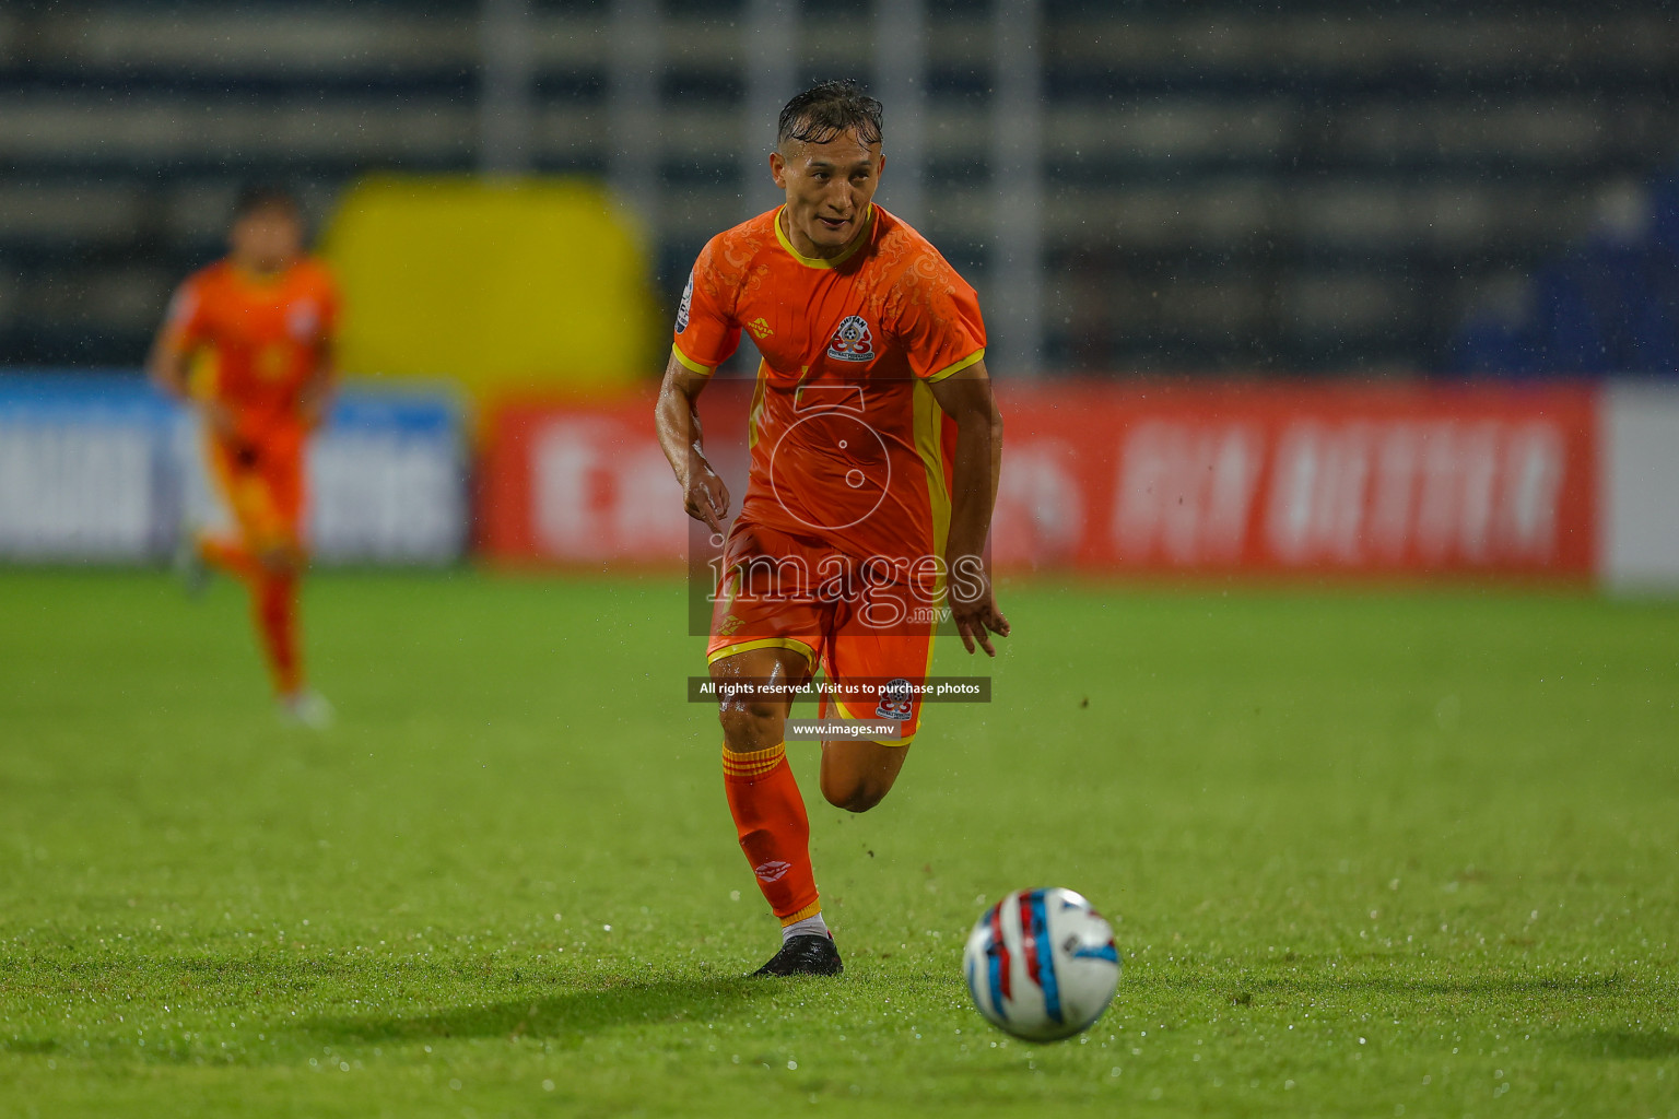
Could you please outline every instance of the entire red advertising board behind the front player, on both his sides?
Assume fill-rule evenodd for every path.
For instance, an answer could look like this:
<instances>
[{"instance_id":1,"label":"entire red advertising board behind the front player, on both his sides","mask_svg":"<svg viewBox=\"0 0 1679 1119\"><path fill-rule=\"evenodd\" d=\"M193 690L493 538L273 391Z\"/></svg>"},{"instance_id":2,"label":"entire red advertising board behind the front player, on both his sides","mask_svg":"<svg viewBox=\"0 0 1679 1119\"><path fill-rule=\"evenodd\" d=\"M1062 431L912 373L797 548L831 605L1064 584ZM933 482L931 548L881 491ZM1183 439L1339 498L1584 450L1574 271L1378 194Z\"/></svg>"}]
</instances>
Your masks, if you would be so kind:
<instances>
[{"instance_id":1,"label":"entire red advertising board behind the front player, on both his sides","mask_svg":"<svg viewBox=\"0 0 1679 1119\"><path fill-rule=\"evenodd\" d=\"M704 398L739 505L747 384ZM1593 570L1592 389L1001 386L999 567L1086 572ZM482 545L509 560L678 564L688 527L650 396L509 403Z\"/></svg>"}]
</instances>

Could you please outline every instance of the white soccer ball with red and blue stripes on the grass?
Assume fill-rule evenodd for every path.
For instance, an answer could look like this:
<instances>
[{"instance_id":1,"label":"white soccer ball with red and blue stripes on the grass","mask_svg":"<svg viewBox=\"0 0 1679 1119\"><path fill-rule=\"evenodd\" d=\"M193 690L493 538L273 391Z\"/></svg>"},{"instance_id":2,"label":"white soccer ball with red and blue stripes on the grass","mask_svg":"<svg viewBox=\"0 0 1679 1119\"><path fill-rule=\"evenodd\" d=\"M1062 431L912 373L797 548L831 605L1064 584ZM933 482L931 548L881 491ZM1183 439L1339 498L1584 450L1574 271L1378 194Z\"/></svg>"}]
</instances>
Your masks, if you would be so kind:
<instances>
[{"instance_id":1,"label":"white soccer ball with red and blue stripes on the grass","mask_svg":"<svg viewBox=\"0 0 1679 1119\"><path fill-rule=\"evenodd\" d=\"M1113 928L1071 889L1019 889L981 918L962 951L974 1005L1028 1042L1088 1028L1120 985Z\"/></svg>"}]
</instances>

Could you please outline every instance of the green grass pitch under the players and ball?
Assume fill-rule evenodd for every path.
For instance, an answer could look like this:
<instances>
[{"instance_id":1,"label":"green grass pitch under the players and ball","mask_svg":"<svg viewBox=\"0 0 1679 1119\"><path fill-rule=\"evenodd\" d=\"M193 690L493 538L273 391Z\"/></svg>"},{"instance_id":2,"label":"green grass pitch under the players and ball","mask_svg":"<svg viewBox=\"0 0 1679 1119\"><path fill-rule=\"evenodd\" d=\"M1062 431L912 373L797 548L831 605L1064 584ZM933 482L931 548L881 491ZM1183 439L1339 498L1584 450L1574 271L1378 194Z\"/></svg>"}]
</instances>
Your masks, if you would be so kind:
<instances>
[{"instance_id":1,"label":"green grass pitch under the players and ball","mask_svg":"<svg viewBox=\"0 0 1679 1119\"><path fill-rule=\"evenodd\" d=\"M321 575L311 735L235 587L0 574L0 1114L1679 1116L1679 609L1001 599L996 701L811 805L846 975L754 983L677 582ZM1033 884L1125 960L1049 1047L959 968Z\"/></svg>"}]
</instances>

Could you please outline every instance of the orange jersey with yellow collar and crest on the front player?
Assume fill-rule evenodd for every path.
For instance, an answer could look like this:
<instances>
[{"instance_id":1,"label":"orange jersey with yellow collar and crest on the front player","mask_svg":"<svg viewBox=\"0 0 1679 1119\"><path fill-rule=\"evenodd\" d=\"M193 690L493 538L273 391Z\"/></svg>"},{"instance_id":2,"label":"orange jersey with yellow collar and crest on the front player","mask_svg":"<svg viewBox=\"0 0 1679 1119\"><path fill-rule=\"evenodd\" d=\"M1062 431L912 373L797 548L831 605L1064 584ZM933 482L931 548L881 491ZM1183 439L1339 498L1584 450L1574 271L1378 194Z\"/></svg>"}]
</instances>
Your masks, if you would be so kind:
<instances>
[{"instance_id":1,"label":"orange jersey with yellow collar and crest on the front player","mask_svg":"<svg viewBox=\"0 0 1679 1119\"><path fill-rule=\"evenodd\" d=\"M777 208L714 237L693 265L677 359L709 374L742 330L762 356L732 552L762 525L855 560L944 555L955 423L927 384L981 361L986 325L920 233L880 206L866 223L845 255L816 260Z\"/></svg>"}]
</instances>

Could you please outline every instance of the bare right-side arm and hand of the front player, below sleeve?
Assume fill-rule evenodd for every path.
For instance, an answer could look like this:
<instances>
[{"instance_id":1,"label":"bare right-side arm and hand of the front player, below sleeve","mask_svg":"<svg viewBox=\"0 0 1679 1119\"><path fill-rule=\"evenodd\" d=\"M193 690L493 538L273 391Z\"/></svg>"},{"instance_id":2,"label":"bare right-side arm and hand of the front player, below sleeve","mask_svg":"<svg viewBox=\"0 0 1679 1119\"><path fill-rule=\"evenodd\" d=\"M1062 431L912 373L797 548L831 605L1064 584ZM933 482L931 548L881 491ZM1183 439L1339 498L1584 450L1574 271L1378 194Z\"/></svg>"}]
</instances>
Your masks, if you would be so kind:
<instances>
[{"instance_id":1,"label":"bare right-side arm and hand of the front player, below sleeve","mask_svg":"<svg viewBox=\"0 0 1679 1119\"><path fill-rule=\"evenodd\" d=\"M930 388L939 408L955 421L950 537L945 545L950 616L964 649L972 653L977 643L986 656L997 656L991 634L1007 638L1009 619L997 611L984 552L1002 468L1002 413L991 393L984 361Z\"/></svg>"}]
</instances>

